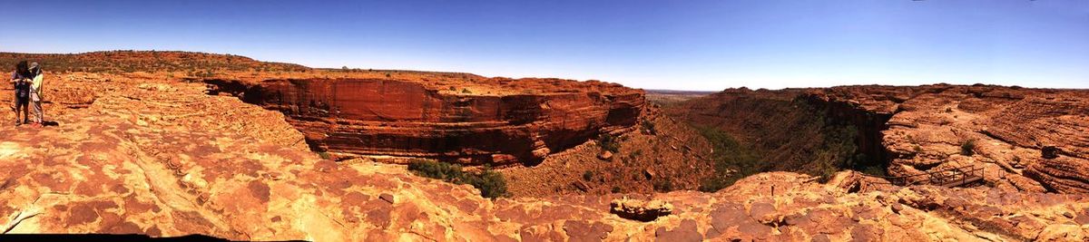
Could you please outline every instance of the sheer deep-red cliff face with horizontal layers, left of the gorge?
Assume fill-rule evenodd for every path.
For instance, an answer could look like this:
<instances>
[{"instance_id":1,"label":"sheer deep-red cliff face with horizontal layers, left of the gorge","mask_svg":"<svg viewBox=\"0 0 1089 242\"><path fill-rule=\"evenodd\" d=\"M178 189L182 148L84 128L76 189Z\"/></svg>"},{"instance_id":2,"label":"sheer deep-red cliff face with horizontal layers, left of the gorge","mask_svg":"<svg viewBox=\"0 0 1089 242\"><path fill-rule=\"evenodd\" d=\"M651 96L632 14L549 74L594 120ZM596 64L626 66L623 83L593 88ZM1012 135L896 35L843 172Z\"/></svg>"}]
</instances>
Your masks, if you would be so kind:
<instances>
[{"instance_id":1,"label":"sheer deep-red cliff face with horizontal layers, left of the gorge","mask_svg":"<svg viewBox=\"0 0 1089 242\"><path fill-rule=\"evenodd\" d=\"M283 112L321 150L470 165L535 164L600 133L629 129L644 109L643 92L623 87L473 95L393 80L213 84Z\"/></svg>"}]
</instances>

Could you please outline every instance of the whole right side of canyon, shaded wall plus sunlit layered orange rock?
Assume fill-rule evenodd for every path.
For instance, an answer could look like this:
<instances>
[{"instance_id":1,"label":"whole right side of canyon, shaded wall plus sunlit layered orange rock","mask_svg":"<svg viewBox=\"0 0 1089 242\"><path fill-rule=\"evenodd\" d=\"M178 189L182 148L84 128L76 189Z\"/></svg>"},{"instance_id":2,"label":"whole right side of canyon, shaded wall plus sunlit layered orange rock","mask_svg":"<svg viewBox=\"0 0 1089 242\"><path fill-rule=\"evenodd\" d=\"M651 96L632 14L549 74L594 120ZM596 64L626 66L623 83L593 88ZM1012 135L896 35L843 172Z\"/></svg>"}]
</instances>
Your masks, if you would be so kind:
<instances>
[{"instance_id":1,"label":"whole right side of canyon, shaded wall plus sunlit layered orange rock","mask_svg":"<svg viewBox=\"0 0 1089 242\"><path fill-rule=\"evenodd\" d=\"M828 159L821 149L829 147L820 143L829 133L815 123L846 124L856 130L856 156L884 164L891 176L976 166L995 187L1089 192L1089 90L944 84L727 89L681 107L674 112L736 135L783 170L805 171Z\"/></svg>"}]
</instances>

